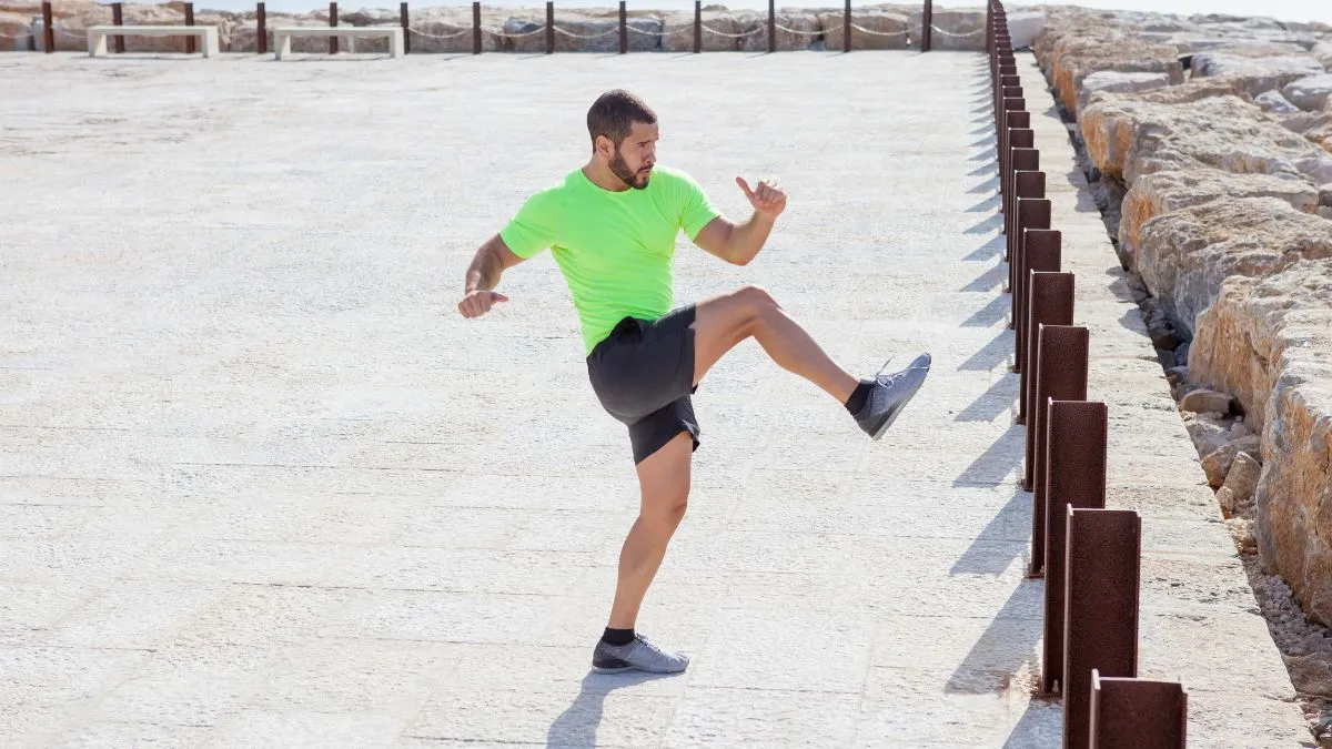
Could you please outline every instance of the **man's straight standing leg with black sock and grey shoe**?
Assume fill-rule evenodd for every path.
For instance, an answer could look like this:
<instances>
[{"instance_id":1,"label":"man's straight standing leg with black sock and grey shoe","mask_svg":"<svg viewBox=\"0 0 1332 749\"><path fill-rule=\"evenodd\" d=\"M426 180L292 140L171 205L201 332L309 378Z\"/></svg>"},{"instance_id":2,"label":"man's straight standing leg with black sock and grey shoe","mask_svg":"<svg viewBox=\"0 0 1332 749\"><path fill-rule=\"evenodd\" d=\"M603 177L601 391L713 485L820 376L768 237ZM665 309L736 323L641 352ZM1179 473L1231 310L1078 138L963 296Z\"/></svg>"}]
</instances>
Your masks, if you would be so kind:
<instances>
[{"instance_id":1,"label":"man's straight standing leg with black sock and grey shoe","mask_svg":"<svg viewBox=\"0 0 1332 749\"><path fill-rule=\"evenodd\" d=\"M689 505L694 440L681 432L637 465L642 493L638 520L619 552L619 580L606 634L593 653L593 669L615 673L630 669L675 673L689 658L662 652L634 633L638 608L666 556L666 546Z\"/></svg>"}]
</instances>

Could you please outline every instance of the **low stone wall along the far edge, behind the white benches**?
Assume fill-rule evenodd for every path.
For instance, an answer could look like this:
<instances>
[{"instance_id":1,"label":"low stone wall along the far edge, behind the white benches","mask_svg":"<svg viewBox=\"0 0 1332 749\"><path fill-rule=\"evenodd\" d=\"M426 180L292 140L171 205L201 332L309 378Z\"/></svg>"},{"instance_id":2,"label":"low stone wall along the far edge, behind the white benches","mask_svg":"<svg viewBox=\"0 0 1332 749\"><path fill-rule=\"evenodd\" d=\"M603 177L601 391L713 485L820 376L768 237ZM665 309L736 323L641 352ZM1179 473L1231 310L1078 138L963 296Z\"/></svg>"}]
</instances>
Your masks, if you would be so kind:
<instances>
[{"instance_id":1,"label":"low stone wall along the far edge, behind the white benches","mask_svg":"<svg viewBox=\"0 0 1332 749\"><path fill-rule=\"evenodd\" d=\"M317 3L312 3L317 5ZM413 4L414 5L414 4ZM430 7L409 5L412 52L472 52L470 5ZM840 5L827 8L778 8L777 48L840 49L843 11ZM124 5L124 23L184 24L184 5L165 4ZM1022 21L1023 33L1035 37L1043 16L1027 13ZM308 13L268 12L269 28L274 25L318 25L329 21L328 7ZM55 45L57 51L85 51L87 27L111 23L111 7L92 0L61 0L53 4ZM218 31L222 52L256 52L256 12L244 13L210 11L204 3L194 5L196 25L210 24ZM398 9L341 9L338 25L398 25ZM546 37L541 29L546 23L542 3L531 8L494 8L482 5L482 49L486 52L545 52ZM919 47L922 17L919 4L856 4L851 13L852 49L907 49ZM702 47L706 52L766 51L767 13L763 11L729 11L725 5L707 4L702 12ZM694 48L694 13L631 9L626 25L633 52L685 52ZM979 51L983 48L984 12L979 7L952 11L936 7L932 25L934 49ZM619 11L615 4L605 8L562 11L555 4L557 52L615 52L619 49ZM41 5L32 0L0 0L0 49L43 49ZM269 49L272 32L269 32ZM357 51L381 52L385 40L357 41ZM125 37L125 52L184 52L184 39ZM294 52L328 49L328 40L297 39Z\"/></svg>"}]
</instances>

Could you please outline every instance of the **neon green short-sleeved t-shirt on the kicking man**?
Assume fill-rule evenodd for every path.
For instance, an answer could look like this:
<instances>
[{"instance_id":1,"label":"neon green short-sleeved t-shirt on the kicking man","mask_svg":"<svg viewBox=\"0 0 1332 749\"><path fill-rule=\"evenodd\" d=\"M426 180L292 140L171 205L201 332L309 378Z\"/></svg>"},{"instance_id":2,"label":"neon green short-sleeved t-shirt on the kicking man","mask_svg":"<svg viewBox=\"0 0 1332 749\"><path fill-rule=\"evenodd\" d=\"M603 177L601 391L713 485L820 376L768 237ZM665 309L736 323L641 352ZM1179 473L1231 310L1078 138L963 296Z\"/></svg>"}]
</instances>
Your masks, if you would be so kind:
<instances>
[{"instance_id":1,"label":"neon green short-sleeved t-shirt on the kicking man","mask_svg":"<svg viewBox=\"0 0 1332 749\"><path fill-rule=\"evenodd\" d=\"M529 197L500 239L518 257L550 248L569 283L585 355L625 317L655 320L674 299L675 237L717 211L687 173L657 164L645 189L597 187L582 169Z\"/></svg>"}]
</instances>

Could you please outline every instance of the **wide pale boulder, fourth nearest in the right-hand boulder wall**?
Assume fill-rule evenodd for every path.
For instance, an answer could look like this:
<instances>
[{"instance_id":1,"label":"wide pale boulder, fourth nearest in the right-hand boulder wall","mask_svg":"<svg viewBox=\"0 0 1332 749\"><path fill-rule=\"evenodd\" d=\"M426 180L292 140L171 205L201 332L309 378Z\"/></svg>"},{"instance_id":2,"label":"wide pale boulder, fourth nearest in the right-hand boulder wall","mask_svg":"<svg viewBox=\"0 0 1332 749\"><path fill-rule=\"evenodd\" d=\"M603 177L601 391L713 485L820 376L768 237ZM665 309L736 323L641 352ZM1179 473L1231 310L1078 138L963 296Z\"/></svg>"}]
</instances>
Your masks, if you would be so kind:
<instances>
[{"instance_id":1,"label":"wide pale boulder, fourth nearest in the right-hand boulder wall","mask_svg":"<svg viewBox=\"0 0 1332 749\"><path fill-rule=\"evenodd\" d=\"M1167 89L1168 91L1168 89ZM1083 139L1103 173L1132 184L1166 169L1215 167L1228 172L1305 176L1332 181L1332 159L1235 96L1176 105L1154 93L1100 95L1083 112Z\"/></svg>"}]
</instances>

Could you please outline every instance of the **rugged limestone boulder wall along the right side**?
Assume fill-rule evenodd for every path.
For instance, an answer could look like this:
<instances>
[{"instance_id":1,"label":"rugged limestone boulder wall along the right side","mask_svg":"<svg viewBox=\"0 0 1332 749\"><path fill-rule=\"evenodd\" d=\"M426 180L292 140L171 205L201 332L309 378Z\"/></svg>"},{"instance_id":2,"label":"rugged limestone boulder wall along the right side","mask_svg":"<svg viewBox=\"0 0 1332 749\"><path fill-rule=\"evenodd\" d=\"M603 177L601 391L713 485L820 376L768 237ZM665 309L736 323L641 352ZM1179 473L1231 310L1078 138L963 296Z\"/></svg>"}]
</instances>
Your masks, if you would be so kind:
<instances>
[{"instance_id":1,"label":"rugged limestone boulder wall along the right side","mask_svg":"<svg viewBox=\"0 0 1332 749\"><path fill-rule=\"evenodd\" d=\"M1332 624L1332 28L1047 12L1034 52L1220 510Z\"/></svg>"}]
</instances>

